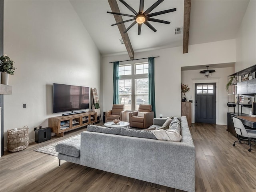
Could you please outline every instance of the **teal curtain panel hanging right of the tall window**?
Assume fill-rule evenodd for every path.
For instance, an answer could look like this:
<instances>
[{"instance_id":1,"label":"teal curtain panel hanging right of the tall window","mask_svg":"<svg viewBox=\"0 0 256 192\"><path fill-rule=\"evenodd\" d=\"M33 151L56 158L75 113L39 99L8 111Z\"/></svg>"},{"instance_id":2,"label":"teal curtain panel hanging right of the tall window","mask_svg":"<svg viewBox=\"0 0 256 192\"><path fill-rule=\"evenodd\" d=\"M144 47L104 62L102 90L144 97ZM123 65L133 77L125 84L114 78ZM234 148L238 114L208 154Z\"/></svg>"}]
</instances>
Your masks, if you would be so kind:
<instances>
[{"instance_id":1,"label":"teal curtain panel hanging right of the tall window","mask_svg":"<svg viewBox=\"0 0 256 192\"><path fill-rule=\"evenodd\" d=\"M154 117L156 117L156 100L155 100L155 58L148 58L148 104L152 105Z\"/></svg>"}]
</instances>

